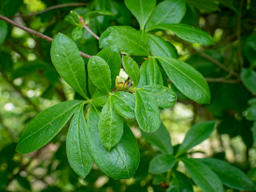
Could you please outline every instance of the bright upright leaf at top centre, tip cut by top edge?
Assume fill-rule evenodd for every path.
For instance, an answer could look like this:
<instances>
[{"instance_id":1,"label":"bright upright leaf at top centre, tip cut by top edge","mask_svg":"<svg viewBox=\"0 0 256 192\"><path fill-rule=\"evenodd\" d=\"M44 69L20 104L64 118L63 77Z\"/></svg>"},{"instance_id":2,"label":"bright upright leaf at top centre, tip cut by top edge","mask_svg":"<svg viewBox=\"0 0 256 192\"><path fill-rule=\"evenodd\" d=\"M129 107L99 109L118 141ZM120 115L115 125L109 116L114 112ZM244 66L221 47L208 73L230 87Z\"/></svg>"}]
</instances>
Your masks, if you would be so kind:
<instances>
[{"instance_id":1,"label":"bright upright leaf at top centre, tip cut by top edge","mask_svg":"<svg viewBox=\"0 0 256 192\"><path fill-rule=\"evenodd\" d=\"M139 22L140 29L143 30L155 8L156 0L125 0L125 5Z\"/></svg>"}]
</instances>

